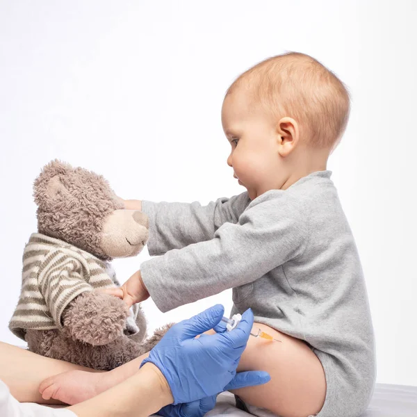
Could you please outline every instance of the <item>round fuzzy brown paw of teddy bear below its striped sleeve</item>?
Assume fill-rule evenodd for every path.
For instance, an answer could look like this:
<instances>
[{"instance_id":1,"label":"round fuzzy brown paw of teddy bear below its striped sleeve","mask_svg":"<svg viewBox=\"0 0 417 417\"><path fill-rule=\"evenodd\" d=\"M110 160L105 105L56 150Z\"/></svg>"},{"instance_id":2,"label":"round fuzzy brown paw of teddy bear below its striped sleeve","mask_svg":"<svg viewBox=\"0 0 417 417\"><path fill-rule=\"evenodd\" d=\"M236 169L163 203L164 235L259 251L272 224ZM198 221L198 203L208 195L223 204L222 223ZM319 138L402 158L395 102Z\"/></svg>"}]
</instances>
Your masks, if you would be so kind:
<instances>
[{"instance_id":1,"label":"round fuzzy brown paw of teddy bear below its striped sleeve","mask_svg":"<svg viewBox=\"0 0 417 417\"><path fill-rule=\"evenodd\" d=\"M68 336L90 343L106 345L122 336L129 309L117 297L88 292L76 297L63 315Z\"/></svg>"}]
</instances>

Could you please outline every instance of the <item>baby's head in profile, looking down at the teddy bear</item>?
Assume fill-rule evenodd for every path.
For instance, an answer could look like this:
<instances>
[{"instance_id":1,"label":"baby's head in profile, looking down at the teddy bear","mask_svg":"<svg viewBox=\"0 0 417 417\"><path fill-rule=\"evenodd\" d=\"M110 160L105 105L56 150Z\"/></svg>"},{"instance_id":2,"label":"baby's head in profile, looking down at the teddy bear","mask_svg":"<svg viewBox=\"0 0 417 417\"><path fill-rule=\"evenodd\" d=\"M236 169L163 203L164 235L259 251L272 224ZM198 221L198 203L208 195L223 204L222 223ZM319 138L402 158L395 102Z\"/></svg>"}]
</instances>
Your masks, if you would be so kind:
<instances>
[{"instance_id":1,"label":"baby's head in profile, looking down at the teddy bear","mask_svg":"<svg viewBox=\"0 0 417 417\"><path fill-rule=\"evenodd\" d=\"M345 131L350 97L345 85L311 56L288 53L247 70L227 90L227 163L251 199L285 189L317 170Z\"/></svg>"}]
</instances>

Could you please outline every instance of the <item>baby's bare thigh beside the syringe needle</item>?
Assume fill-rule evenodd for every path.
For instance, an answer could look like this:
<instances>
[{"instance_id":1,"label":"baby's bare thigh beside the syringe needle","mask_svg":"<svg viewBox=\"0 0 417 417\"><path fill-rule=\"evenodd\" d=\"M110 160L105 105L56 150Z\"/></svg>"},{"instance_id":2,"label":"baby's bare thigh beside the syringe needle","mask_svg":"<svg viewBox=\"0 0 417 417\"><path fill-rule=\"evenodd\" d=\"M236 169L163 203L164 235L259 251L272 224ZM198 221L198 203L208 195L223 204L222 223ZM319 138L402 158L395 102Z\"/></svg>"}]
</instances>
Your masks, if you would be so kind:
<instances>
[{"instance_id":1,"label":"baby's bare thigh beside the syringe needle","mask_svg":"<svg viewBox=\"0 0 417 417\"><path fill-rule=\"evenodd\" d=\"M233 391L243 401L269 409L281 417L317 414L325 402L326 380L322 365L308 345L271 327L255 323L281 341L250 337L238 371L266 370L268 384Z\"/></svg>"}]
</instances>

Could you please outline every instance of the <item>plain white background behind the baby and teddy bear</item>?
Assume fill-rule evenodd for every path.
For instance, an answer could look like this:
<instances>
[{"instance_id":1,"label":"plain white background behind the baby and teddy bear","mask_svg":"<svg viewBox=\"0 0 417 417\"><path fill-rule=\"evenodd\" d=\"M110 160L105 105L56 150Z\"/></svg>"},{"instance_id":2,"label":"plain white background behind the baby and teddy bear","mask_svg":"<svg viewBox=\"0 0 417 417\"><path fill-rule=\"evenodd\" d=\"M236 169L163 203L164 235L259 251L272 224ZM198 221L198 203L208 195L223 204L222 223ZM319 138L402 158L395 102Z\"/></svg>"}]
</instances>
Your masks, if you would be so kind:
<instances>
[{"instance_id":1,"label":"plain white background behind the baby and teddy bear","mask_svg":"<svg viewBox=\"0 0 417 417\"><path fill-rule=\"evenodd\" d=\"M104 174L124 198L206 203L243 191L220 108L244 70L311 54L349 86L329 161L357 239L378 382L417 385L415 1L0 1L0 340L36 229L33 179L53 158ZM148 259L115 261L121 281ZM267 296L267 295L265 295ZM222 302L163 315L151 328Z\"/></svg>"}]
</instances>

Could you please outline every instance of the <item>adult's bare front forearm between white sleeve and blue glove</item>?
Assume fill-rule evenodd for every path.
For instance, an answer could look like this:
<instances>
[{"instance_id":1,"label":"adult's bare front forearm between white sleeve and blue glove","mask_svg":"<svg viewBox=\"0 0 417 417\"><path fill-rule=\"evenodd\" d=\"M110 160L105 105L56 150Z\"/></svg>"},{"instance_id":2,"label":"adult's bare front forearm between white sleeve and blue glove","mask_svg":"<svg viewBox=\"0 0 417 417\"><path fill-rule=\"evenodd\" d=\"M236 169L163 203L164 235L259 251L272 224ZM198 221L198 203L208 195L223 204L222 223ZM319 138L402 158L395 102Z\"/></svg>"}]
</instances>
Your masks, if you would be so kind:
<instances>
[{"instance_id":1,"label":"adult's bare front forearm between white sleeve and blue glove","mask_svg":"<svg viewBox=\"0 0 417 417\"><path fill-rule=\"evenodd\" d=\"M145 363L124 382L68 409L79 417L147 417L173 401L161 371Z\"/></svg>"}]
</instances>

